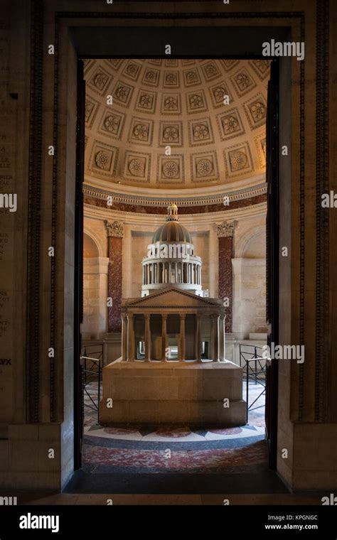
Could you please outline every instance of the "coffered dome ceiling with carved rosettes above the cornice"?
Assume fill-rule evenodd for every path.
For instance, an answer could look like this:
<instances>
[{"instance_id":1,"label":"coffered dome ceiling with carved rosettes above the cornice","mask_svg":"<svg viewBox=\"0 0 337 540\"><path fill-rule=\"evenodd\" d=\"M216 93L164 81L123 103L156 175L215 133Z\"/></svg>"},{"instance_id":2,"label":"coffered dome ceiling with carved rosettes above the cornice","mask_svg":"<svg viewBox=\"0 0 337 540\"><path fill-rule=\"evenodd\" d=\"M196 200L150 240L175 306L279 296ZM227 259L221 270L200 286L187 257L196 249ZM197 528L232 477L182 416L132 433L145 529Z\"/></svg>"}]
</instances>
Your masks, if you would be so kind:
<instances>
[{"instance_id":1,"label":"coffered dome ceiling with carved rosettes above the cornice","mask_svg":"<svg viewBox=\"0 0 337 540\"><path fill-rule=\"evenodd\" d=\"M169 190L260 176L268 78L267 60L86 60L86 182Z\"/></svg>"}]
</instances>

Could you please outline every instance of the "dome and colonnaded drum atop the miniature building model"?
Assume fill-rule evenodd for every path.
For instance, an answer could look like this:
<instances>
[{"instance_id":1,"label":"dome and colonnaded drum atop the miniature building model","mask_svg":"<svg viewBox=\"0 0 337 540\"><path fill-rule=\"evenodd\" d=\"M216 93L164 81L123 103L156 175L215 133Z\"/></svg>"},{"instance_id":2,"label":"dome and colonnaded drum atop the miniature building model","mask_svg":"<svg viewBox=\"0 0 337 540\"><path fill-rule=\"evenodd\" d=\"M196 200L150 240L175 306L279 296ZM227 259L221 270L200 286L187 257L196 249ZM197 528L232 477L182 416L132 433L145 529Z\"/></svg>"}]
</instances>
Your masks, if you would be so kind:
<instances>
[{"instance_id":1,"label":"dome and colonnaded drum atop the miniature building model","mask_svg":"<svg viewBox=\"0 0 337 540\"><path fill-rule=\"evenodd\" d=\"M194 254L188 230L178 222L177 205L169 205L167 212L166 223L154 233L147 256L142 261L141 296L170 285L203 296L202 261Z\"/></svg>"}]
</instances>

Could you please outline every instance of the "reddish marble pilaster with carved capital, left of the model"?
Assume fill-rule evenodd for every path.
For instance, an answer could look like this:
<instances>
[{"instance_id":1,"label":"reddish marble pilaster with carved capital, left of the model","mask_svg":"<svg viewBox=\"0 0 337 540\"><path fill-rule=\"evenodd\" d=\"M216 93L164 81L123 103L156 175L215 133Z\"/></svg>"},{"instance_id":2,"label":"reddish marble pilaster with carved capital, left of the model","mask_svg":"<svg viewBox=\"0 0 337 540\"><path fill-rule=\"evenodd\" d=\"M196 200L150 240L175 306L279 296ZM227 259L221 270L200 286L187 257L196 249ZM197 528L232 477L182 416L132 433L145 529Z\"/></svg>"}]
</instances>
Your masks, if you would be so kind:
<instances>
[{"instance_id":1,"label":"reddish marble pilaster with carved capital, left of the model","mask_svg":"<svg viewBox=\"0 0 337 540\"><path fill-rule=\"evenodd\" d=\"M121 303L122 303L122 242L124 225L122 222L105 221L107 230L109 271L108 271L108 297L112 299L107 313L108 332L121 331Z\"/></svg>"}]
</instances>

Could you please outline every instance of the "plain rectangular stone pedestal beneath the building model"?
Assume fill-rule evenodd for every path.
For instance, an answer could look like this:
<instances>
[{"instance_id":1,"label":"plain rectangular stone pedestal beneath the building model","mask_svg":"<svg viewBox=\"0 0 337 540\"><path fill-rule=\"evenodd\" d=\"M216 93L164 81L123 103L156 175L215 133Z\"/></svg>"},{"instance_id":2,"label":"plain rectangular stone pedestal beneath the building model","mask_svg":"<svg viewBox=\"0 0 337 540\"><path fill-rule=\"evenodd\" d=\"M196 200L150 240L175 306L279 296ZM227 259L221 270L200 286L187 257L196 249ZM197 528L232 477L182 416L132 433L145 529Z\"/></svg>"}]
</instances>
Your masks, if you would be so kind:
<instances>
[{"instance_id":1,"label":"plain rectangular stone pedestal beneath the building model","mask_svg":"<svg viewBox=\"0 0 337 540\"><path fill-rule=\"evenodd\" d=\"M242 426L242 369L227 360L158 364L115 360L103 369L100 423Z\"/></svg>"}]
</instances>

